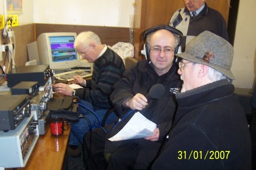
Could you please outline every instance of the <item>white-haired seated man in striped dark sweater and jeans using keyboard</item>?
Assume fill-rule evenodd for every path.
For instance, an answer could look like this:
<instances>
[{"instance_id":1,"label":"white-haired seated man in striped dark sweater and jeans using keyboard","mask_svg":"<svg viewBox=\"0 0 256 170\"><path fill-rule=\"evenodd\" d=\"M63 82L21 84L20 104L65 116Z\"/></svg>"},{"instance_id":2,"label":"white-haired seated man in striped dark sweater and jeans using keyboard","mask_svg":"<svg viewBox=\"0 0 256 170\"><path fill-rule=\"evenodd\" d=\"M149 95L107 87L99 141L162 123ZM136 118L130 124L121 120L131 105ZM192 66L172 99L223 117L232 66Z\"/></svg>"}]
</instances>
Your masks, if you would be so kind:
<instances>
[{"instance_id":1,"label":"white-haired seated man in striped dark sweater and jeans using keyboard","mask_svg":"<svg viewBox=\"0 0 256 170\"><path fill-rule=\"evenodd\" d=\"M95 126L100 126L103 116L111 107L109 95L113 84L122 77L125 70L122 58L107 45L101 44L100 38L94 32L81 32L76 37L74 47L83 60L93 64L92 80L84 80L81 75L74 77L83 86L82 89L72 89L68 84L58 83L54 90L67 96L78 96L78 112L83 114L79 122L73 123L69 137L68 154L78 157L81 151L79 142L83 144L84 134ZM95 114L93 114L91 111ZM109 117L109 122L113 121Z\"/></svg>"}]
</instances>

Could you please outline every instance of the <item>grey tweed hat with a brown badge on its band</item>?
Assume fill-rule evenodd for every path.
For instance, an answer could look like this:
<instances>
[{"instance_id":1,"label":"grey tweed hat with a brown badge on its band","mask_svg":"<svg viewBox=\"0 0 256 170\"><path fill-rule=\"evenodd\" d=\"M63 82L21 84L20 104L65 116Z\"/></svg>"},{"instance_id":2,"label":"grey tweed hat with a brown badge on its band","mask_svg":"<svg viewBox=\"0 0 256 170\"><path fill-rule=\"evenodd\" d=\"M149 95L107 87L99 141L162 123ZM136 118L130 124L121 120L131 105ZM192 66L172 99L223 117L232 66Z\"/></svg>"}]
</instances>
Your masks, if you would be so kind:
<instances>
[{"instance_id":1,"label":"grey tweed hat with a brown badge on its band","mask_svg":"<svg viewBox=\"0 0 256 170\"><path fill-rule=\"evenodd\" d=\"M185 52L177 54L187 61L204 64L235 80L230 71L233 60L233 46L210 31L204 31L193 38Z\"/></svg>"}]
</instances>

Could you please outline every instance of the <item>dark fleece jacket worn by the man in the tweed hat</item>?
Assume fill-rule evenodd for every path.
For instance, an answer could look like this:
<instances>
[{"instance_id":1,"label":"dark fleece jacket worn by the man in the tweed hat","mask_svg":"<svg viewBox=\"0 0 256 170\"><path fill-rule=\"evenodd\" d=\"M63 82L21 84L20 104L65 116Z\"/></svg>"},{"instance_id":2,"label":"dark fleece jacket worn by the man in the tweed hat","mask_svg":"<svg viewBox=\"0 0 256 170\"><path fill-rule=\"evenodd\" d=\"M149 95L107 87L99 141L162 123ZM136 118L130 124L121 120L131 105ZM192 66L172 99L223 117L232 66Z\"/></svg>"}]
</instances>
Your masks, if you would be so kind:
<instances>
[{"instance_id":1,"label":"dark fleece jacket worn by the man in the tweed hat","mask_svg":"<svg viewBox=\"0 0 256 170\"><path fill-rule=\"evenodd\" d=\"M226 80L177 94L178 112L152 169L251 169L249 129Z\"/></svg>"}]
</instances>

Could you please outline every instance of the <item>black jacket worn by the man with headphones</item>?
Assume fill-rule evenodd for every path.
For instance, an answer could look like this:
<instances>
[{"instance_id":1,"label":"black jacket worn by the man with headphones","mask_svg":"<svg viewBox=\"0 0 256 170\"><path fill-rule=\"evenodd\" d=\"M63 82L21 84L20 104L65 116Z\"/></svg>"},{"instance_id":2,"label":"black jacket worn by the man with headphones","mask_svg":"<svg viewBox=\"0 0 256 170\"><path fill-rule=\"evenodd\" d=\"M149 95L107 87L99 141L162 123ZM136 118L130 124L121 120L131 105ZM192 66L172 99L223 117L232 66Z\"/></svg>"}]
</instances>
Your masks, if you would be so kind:
<instances>
[{"instance_id":1,"label":"black jacket worn by the man with headphones","mask_svg":"<svg viewBox=\"0 0 256 170\"><path fill-rule=\"evenodd\" d=\"M177 107L174 94L179 92L182 84L177 71L178 66L174 63L169 72L159 76L147 60L140 61L136 66L126 70L122 79L114 84L113 92L110 95L110 100L117 113L124 116L130 111L130 108L125 108L122 105L127 98L133 97L137 93L146 96L154 84L161 83L165 87L164 95L158 99L149 100L148 106L140 112L149 120L155 122L160 130L163 127L165 129L166 125L171 124L170 121L172 121L173 113ZM162 112L163 106L166 105L169 106L168 114ZM165 122L168 123L165 124ZM161 136L162 132L165 132L165 130L161 131Z\"/></svg>"}]
</instances>

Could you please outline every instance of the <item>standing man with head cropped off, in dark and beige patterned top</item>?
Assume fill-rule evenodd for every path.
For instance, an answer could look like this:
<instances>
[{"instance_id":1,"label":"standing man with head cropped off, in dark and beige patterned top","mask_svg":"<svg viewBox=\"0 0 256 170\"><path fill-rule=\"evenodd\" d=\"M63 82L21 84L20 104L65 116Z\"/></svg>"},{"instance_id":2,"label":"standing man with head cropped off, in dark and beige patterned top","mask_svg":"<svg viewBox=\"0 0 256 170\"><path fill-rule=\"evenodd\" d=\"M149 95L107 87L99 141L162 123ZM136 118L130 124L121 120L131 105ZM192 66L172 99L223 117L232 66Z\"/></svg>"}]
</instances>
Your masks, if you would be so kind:
<instances>
[{"instance_id":1,"label":"standing man with head cropped off, in dark and beige patterned top","mask_svg":"<svg viewBox=\"0 0 256 170\"><path fill-rule=\"evenodd\" d=\"M169 22L183 33L183 44L208 30L228 41L227 24L220 12L208 7L205 0L185 0L186 7L176 11ZM184 51L184 49L182 50Z\"/></svg>"}]
</instances>

